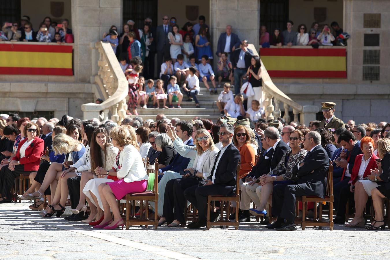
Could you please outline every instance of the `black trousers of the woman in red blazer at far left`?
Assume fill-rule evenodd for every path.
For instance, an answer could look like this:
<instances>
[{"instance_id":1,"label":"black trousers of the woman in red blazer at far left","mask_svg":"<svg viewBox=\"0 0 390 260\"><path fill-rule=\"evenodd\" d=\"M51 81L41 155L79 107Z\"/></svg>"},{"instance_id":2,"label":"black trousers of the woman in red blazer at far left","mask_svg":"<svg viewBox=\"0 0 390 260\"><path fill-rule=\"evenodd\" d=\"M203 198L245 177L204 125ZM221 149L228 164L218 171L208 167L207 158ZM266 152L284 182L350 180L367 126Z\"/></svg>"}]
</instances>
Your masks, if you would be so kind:
<instances>
[{"instance_id":1,"label":"black trousers of the woman in red blazer at far left","mask_svg":"<svg viewBox=\"0 0 390 260\"><path fill-rule=\"evenodd\" d=\"M15 165L15 170L11 171L8 169L8 165L3 166L0 170L0 194L3 198L7 198L7 200L11 200L12 198L12 187L15 184L15 179L21 174L30 174L32 172L28 172L24 170L24 165L19 164ZM22 192L22 191L19 191Z\"/></svg>"}]
</instances>

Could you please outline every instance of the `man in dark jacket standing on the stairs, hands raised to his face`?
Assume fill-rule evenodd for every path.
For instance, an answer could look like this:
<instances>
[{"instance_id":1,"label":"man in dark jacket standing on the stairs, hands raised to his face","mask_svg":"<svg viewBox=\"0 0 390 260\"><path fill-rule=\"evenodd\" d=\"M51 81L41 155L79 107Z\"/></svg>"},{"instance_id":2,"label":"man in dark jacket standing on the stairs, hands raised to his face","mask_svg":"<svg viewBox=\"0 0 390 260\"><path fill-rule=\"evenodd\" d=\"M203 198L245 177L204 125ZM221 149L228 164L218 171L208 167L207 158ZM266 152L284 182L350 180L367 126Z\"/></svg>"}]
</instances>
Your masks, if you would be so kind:
<instances>
[{"instance_id":1,"label":"man in dark jacket standing on the stairs, hands raised to his face","mask_svg":"<svg viewBox=\"0 0 390 260\"><path fill-rule=\"evenodd\" d=\"M248 42L246 40L241 42L241 49L235 50L230 56L232 62L233 75L234 75L234 92L235 94L240 93L241 78L246 74L248 67L250 66L250 60L252 59L253 51L248 49ZM246 80L243 80L245 83Z\"/></svg>"}]
</instances>

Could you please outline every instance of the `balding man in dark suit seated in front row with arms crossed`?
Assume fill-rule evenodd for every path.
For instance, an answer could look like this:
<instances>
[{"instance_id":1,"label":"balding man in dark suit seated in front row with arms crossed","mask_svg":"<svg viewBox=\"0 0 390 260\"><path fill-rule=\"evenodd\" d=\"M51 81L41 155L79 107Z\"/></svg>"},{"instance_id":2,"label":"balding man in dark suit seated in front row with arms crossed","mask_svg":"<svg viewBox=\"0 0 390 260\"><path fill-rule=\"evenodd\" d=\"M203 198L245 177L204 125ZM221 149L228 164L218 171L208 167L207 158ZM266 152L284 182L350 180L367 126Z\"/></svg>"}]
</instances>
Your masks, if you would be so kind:
<instances>
[{"instance_id":1,"label":"balding man in dark suit seated in front row with arms crossed","mask_svg":"<svg viewBox=\"0 0 390 260\"><path fill-rule=\"evenodd\" d=\"M329 157L321 146L321 135L316 131L310 131L305 135L304 145L308 153L305 159L293 168L293 174L298 177L296 184L278 184L273 188L272 215L278 219L266 228L276 228L279 231L296 230L294 224L296 196L324 198Z\"/></svg>"}]
</instances>

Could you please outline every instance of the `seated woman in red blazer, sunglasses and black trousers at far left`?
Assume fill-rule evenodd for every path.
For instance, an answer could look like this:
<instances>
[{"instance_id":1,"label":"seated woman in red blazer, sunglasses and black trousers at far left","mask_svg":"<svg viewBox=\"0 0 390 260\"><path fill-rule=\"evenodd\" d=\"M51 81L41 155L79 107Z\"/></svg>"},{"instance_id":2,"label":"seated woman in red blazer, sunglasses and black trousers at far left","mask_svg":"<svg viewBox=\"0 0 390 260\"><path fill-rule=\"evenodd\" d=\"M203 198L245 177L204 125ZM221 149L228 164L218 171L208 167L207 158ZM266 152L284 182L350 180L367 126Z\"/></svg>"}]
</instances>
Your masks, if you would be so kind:
<instances>
[{"instance_id":1,"label":"seated woman in red blazer, sunglasses and black trousers at far left","mask_svg":"<svg viewBox=\"0 0 390 260\"><path fill-rule=\"evenodd\" d=\"M24 128L27 138L19 143L16 155L8 166L0 170L0 203L11 202L11 189L15 178L20 174L36 172L43 156L44 141L39 138L39 127L35 123L28 123Z\"/></svg>"}]
</instances>

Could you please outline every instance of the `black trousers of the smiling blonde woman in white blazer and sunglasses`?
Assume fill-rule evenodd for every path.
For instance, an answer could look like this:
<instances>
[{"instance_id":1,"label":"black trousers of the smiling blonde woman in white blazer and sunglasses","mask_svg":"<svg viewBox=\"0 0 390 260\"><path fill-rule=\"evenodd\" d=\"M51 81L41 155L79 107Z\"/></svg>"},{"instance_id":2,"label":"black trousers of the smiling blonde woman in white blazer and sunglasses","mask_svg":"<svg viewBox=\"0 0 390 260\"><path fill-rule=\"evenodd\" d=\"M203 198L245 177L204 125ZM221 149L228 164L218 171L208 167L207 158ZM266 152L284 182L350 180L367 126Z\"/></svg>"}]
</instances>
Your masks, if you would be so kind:
<instances>
[{"instance_id":1,"label":"black trousers of the smiling blonde woman in white blazer and sunglasses","mask_svg":"<svg viewBox=\"0 0 390 260\"><path fill-rule=\"evenodd\" d=\"M172 223L177 219L180 223L185 223L184 209L186 205L186 198L184 197L184 190L198 186L199 179L179 178L169 180L165 186L164 206L163 206L163 218L167 220L167 223Z\"/></svg>"}]
</instances>

